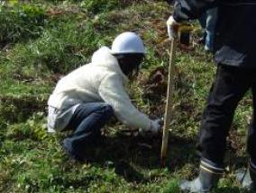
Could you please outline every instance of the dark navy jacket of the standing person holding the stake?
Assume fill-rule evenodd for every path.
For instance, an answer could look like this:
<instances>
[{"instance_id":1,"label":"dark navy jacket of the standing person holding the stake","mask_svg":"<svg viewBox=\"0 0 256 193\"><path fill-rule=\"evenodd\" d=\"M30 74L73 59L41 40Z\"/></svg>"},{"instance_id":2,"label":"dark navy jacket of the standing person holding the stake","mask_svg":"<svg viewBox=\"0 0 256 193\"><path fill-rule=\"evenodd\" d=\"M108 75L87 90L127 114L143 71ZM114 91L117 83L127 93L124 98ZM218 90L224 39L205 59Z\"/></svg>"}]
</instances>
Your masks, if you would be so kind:
<instances>
[{"instance_id":1,"label":"dark navy jacket of the standing person holding the stake","mask_svg":"<svg viewBox=\"0 0 256 193\"><path fill-rule=\"evenodd\" d=\"M215 29L215 62L256 69L256 0L177 0L177 22L197 19L218 7Z\"/></svg>"}]
</instances>

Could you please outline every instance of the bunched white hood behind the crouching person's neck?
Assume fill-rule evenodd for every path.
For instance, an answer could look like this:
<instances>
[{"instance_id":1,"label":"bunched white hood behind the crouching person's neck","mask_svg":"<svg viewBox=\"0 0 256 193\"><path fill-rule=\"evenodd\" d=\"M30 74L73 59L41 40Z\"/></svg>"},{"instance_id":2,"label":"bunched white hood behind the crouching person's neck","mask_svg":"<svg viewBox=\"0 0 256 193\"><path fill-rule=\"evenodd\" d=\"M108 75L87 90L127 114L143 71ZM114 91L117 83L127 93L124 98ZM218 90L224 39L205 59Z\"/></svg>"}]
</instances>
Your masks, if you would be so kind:
<instances>
[{"instance_id":1,"label":"bunched white hood behind the crouching person's neck","mask_svg":"<svg viewBox=\"0 0 256 193\"><path fill-rule=\"evenodd\" d=\"M96 50L92 57L92 64L96 66L104 66L105 68L122 75L125 81L128 80L128 77L123 74L123 71L118 65L117 59L111 54L110 48L102 47Z\"/></svg>"}]
</instances>

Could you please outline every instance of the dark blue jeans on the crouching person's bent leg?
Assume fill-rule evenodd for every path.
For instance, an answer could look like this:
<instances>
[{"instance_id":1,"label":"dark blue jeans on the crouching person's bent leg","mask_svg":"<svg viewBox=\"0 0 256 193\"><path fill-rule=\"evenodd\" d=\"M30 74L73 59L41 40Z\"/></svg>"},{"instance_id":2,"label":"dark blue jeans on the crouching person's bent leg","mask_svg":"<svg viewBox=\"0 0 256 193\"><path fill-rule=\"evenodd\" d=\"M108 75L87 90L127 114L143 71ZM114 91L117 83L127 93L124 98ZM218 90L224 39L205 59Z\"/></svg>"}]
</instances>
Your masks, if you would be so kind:
<instances>
[{"instance_id":1,"label":"dark blue jeans on the crouching person's bent leg","mask_svg":"<svg viewBox=\"0 0 256 193\"><path fill-rule=\"evenodd\" d=\"M74 133L63 141L63 148L69 156L83 160L85 147L101 137L100 129L113 115L112 107L102 102L79 105L67 127L74 130Z\"/></svg>"}]
</instances>

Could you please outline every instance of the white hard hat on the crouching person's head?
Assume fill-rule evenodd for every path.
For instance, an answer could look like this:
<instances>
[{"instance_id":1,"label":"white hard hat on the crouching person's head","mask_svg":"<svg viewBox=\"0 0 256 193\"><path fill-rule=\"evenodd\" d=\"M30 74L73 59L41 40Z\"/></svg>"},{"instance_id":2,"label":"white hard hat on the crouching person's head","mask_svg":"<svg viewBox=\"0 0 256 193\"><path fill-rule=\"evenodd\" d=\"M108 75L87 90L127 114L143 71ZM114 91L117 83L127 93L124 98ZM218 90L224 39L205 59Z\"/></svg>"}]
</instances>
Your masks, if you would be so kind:
<instances>
[{"instance_id":1,"label":"white hard hat on the crouching person's head","mask_svg":"<svg viewBox=\"0 0 256 193\"><path fill-rule=\"evenodd\" d=\"M112 44L112 54L145 54L142 39L133 32L123 32Z\"/></svg>"}]
</instances>

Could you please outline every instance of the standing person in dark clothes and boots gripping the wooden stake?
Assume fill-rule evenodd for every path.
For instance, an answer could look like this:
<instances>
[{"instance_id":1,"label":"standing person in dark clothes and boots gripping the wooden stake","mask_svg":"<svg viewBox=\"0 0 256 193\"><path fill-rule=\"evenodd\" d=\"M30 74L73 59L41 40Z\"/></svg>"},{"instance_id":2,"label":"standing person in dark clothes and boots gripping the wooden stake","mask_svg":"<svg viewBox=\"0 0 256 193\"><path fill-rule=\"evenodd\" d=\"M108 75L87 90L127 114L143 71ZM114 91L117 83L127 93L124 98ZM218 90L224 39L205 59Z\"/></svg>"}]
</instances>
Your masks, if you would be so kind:
<instances>
[{"instance_id":1,"label":"standing person in dark clothes and boots gripping the wooden stake","mask_svg":"<svg viewBox=\"0 0 256 193\"><path fill-rule=\"evenodd\" d=\"M245 92L252 91L253 118L248 135L250 155L242 187L256 185L256 2L254 0L178 0L167 22L169 38L174 39L178 25L198 19L209 8L218 8L215 30L215 82L209 92L199 132L200 172L196 180L183 181L180 189L208 192L224 173L226 137L233 114Z\"/></svg>"}]
</instances>

